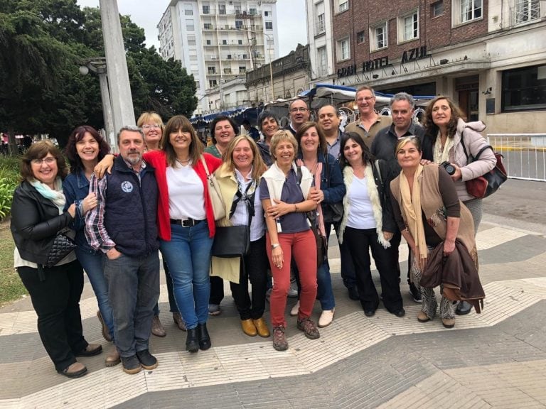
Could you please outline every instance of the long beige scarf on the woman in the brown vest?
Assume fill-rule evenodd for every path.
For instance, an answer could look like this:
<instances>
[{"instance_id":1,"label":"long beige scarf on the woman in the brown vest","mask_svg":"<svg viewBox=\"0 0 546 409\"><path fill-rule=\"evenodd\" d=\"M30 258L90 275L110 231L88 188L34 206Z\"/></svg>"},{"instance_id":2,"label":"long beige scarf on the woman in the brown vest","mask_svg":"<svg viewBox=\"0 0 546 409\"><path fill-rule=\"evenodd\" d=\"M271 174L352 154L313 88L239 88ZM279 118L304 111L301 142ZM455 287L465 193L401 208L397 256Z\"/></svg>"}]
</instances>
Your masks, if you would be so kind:
<instances>
[{"instance_id":1,"label":"long beige scarf on the woman in the brown vest","mask_svg":"<svg viewBox=\"0 0 546 409\"><path fill-rule=\"evenodd\" d=\"M400 173L400 193L402 195L402 207L406 216L407 228L415 241L421 258L420 268L427 263L427 243L424 239L423 217L421 209L421 176L423 166L419 165L413 177L413 191L410 193L410 183L407 182L404 172Z\"/></svg>"}]
</instances>

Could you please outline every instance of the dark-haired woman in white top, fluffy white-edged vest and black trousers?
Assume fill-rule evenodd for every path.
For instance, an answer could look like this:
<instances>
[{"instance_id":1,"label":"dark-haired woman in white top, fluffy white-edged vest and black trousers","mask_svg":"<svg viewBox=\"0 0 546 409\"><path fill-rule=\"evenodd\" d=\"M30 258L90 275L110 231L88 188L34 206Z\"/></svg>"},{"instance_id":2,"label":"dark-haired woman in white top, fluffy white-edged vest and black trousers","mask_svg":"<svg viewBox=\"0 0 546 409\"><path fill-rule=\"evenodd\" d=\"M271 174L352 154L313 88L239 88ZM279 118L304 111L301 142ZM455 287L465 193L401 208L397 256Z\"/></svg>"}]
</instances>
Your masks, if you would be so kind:
<instances>
[{"instance_id":1,"label":"dark-haired woman in white top, fluffy white-edged vest and black trousers","mask_svg":"<svg viewBox=\"0 0 546 409\"><path fill-rule=\"evenodd\" d=\"M405 310L396 266L398 258L389 242L397 227L378 165L358 133L348 132L341 139L340 162L347 193L343 198L339 241L348 249L342 254L349 253L355 266L364 314L372 317L379 306L379 295L370 270L371 250L381 280L383 305L392 314L403 317ZM342 265L346 262L348 260L342 257Z\"/></svg>"}]
</instances>

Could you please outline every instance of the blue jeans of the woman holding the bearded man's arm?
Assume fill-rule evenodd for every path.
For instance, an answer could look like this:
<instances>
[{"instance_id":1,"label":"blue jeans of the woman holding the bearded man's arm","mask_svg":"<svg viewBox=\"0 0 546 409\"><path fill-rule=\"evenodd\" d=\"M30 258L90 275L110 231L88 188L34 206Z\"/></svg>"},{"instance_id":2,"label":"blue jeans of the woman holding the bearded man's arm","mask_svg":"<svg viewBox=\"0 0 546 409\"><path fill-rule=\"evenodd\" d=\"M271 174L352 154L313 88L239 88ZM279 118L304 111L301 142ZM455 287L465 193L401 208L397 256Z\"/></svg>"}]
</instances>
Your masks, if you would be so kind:
<instances>
[{"instance_id":1,"label":"blue jeans of the woman holding the bearded man's arm","mask_svg":"<svg viewBox=\"0 0 546 409\"><path fill-rule=\"evenodd\" d=\"M112 317L112 306L108 300L108 283L105 277L105 256L102 253L95 253L82 249L82 247L76 248L76 257L80 261L89 282L97 297L97 304L99 305L100 315L102 320L105 321L108 327L108 332L114 339L114 318Z\"/></svg>"}]
</instances>

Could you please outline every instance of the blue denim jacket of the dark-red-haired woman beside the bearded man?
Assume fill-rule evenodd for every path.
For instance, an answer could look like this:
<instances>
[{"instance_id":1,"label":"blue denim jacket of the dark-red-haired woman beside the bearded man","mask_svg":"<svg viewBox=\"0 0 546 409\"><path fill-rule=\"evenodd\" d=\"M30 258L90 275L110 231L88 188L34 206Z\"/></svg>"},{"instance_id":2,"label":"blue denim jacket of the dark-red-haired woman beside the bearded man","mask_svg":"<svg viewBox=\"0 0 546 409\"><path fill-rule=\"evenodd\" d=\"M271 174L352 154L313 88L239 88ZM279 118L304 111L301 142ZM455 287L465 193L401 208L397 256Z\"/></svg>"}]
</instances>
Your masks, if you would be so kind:
<instances>
[{"instance_id":1,"label":"blue denim jacket of the dark-red-haired woman beside the bearded man","mask_svg":"<svg viewBox=\"0 0 546 409\"><path fill-rule=\"evenodd\" d=\"M63 193L66 197L65 211L73 203L76 204L76 217L70 227L76 231L75 242L77 246L90 253L97 253L85 239L85 216L83 215L82 200L89 194L89 180L85 178L83 170L70 173L63 180Z\"/></svg>"}]
</instances>

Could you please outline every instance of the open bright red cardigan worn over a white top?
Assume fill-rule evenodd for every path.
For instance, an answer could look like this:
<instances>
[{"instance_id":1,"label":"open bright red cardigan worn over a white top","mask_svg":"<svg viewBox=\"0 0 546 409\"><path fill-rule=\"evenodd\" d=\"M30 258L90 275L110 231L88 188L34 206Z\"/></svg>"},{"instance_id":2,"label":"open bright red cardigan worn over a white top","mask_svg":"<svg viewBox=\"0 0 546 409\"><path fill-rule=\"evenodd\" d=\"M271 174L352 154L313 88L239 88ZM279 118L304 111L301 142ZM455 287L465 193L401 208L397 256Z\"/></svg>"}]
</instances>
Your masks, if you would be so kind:
<instances>
[{"instance_id":1,"label":"open bright red cardigan worn over a white top","mask_svg":"<svg viewBox=\"0 0 546 409\"><path fill-rule=\"evenodd\" d=\"M222 160L215 158L208 153L203 153L205 162L207 163L209 173L214 173L216 169L222 164ZM164 151L149 151L144 153L144 160L147 163L156 168L156 180L157 187L159 189L159 196L157 200L157 224L158 233L161 240L171 240L171 221L168 213L168 187L167 187L167 156ZM204 195L205 195L205 212L207 214L207 223L209 236L214 237L215 234L215 222L213 205L208 197L208 181L207 174L203 163L199 160L198 163L193 165L193 170L196 171L201 182L203 182Z\"/></svg>"}]
</instances>

